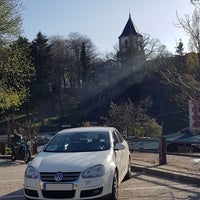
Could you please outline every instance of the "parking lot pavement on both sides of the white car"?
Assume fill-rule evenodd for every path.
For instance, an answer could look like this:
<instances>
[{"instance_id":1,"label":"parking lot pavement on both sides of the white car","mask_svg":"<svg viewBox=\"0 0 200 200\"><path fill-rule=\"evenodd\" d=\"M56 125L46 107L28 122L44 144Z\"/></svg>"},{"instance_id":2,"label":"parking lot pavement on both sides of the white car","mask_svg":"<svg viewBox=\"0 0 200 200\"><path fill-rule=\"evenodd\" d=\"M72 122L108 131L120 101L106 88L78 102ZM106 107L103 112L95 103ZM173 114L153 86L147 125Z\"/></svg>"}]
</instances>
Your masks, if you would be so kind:
<instances>
[{"instance_id":1,"label":"parking lot pavement on both sides of the white car","mask_svg":"<svg viewBox=\"0 0 200 200\"><path fill-rule=\"evenodd\" d=\"M0 200L24 200L23 161L0 160ZM162 177L132 173L132 178L120 184L119 200L199 200L198 185L185 184Z\"/></svg>"}]
</instances>

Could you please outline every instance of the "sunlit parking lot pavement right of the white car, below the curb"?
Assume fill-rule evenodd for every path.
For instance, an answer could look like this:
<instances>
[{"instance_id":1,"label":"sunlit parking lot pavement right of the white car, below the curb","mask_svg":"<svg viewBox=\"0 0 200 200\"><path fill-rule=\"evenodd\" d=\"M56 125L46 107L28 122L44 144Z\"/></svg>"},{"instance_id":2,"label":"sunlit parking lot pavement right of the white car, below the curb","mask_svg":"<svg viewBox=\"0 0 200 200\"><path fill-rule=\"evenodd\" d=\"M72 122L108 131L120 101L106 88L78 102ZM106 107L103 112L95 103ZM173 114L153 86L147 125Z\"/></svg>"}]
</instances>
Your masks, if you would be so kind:
<instances>
[{"instance_id":1,"label":"sunlit parking lot pavement right of the white car, below the curb","mask_svg":"<svg viewBox=\"0 0 200 200\"><path fill-rule=\"evenodd\" d=\"M144 173L132 173L132 178L120 185L120 200L199 200L199 185L192 185L149 176Z\"/></svg>"}]
</instances>

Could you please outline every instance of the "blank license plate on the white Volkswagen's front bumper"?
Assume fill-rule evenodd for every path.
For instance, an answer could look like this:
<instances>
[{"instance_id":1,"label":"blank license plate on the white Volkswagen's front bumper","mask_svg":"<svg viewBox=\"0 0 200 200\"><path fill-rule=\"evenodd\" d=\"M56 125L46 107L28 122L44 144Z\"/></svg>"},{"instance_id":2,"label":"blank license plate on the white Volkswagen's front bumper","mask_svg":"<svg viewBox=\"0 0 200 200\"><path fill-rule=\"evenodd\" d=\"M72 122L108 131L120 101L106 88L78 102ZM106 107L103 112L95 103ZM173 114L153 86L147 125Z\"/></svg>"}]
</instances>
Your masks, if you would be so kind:
<instances>
[{"instance_id":1,"label":"blank license plate on the white Volkswagen's front bumper","mask_svg":"<svg viewBox=\"0 0 200 200\"><path fill-rule=\"evenodd\" d=\"M44 183L44 190L73 190L73 184L66 183Z\"/></svg>"}]
</instances>

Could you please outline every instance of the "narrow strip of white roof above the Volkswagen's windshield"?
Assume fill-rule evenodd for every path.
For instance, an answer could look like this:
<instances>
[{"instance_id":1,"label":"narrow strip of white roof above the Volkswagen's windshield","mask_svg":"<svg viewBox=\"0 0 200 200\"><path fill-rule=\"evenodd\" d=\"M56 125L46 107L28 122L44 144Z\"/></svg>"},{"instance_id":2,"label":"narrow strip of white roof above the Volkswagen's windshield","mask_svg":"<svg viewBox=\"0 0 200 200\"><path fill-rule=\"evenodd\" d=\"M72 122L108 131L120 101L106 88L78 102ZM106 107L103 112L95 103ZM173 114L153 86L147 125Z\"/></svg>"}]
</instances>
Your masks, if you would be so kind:
<instances>
[{"instance_id":1,"label":"narrow strip of white roof above the Volkswagen's windshield","mask_svg":"<svg viewBox=\"0 0 200 200\"><path fill-rule=\"evenodd\" d=\"M92 132L92 131L101 131L101 132L109 132L113 130L113 127L104 127L104 126L95 126L95 127L77 127L77 128L69 128L63 129L58 133L66 133L66 132Z\"/></svg>"}]
</instances>

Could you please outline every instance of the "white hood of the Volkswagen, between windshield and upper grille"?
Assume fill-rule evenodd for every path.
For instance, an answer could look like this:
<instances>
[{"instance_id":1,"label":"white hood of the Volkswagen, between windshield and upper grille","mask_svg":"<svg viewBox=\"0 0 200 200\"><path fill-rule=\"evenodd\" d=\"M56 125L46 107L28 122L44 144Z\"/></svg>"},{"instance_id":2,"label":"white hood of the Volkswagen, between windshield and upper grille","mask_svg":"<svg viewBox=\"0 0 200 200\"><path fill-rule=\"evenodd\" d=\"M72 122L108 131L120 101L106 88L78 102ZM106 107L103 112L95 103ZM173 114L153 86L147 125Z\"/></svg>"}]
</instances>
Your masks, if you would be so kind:
<instances>
[{"instance_id":1,"label":"white hood of the Volkswagen, between windshield and upper grille","mask_svg":"<svg viewBox=\"0 0 200 200\"><path fill-rule=\"evenodd\" d=\"M50 153L41 152L30 165L39 172L57 171L83 171L88 167L103 164L108 159L109 150L98 152L75 152L75 153Z\"/></svg>"}]
</instances>

